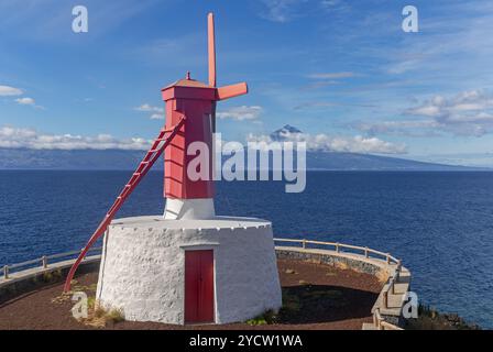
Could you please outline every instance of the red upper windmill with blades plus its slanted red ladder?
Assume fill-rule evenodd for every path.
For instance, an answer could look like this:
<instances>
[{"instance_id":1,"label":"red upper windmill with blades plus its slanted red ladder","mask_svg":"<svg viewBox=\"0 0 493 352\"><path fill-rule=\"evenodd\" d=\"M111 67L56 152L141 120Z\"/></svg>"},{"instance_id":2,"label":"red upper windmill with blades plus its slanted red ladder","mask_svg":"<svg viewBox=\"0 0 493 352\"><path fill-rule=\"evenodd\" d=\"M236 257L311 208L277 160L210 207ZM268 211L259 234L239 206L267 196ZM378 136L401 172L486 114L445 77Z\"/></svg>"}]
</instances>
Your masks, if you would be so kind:
<instances>
[{"instance_id":1,"label":"red upper windmill with blades plus its slanted red ladder","mask_svg":"<svg viewBox=\"0 0 493 352\"><path fill-rule=\"evenodd\" d=\"M209 165L212 165L212 133L216 131L216 102L248 92L245 82L217 88L216 82L216 36L213 14L208 15L209 82L204 84L190 78L187 73L180 79L162 89L166 102L166 124L154 141L123 187L89 242L74 263L65 282L64 290L70 289L70 282L80 262L91 245L105 233L123 202L135 189L163 151L165 152L165 197L171 199L209 199L213 197L213 182L208 179L190 180L187 165L194 156L187 155L190 143L200 141L209 146ZM210 167L212 173L212 167Z\"/></svg>"}]
</instances>

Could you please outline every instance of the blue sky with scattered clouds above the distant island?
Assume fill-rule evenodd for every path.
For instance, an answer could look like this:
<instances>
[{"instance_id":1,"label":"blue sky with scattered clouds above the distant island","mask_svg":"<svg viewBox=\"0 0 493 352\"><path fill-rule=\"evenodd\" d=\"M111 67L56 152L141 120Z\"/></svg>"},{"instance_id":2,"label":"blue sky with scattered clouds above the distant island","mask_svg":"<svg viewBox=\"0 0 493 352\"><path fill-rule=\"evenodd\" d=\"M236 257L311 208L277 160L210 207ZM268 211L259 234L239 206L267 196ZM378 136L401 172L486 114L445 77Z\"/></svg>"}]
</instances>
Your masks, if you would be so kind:
<instances>
[{"instance_id":1,"label":"blue sky with scattered clouds above the distant island","mask_svg":"<svg viewBox=\"0 0 493 352\"><path fill-rule=\"evenodd\" d=\"M72 31L86 6L89 32ZM419 32L402 10L419 11ZM493 2L1 0L0 146L145 148L160 89L207 80L216 14L228 140L284 124L314 148L493 166ZM161 117L161 118L160 118Z\"/></svg>"}]
</instances>

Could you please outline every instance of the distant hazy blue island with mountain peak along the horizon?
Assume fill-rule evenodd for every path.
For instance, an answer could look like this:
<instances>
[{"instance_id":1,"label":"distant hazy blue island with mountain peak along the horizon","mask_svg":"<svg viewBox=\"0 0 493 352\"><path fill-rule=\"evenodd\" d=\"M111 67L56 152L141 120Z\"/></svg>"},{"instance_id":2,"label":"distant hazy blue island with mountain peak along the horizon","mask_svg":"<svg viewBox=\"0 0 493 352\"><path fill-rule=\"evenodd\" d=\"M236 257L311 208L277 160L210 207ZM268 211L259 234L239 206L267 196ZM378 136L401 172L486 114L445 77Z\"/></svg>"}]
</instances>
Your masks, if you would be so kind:
<instances>
[{"instance_id":1,"label":"distant hazy blue island with mountain peak along the horizon","mask_svg":"<svg viewBox=\"0 0 493 352\"><path fill-rule=\"evenodd\" d=\"M295 127L284 125L270 134L272 141L282 142L286 135L302 133ZM0 148L0 169L133 169L145 151L127 150L31 150ZM156 168L163 168L157 163ZM391 156L330 151L308 151L309 170L381 170L381 172L460 172L491 170L485 167L469 167L425 163Z\"/></svg>"}]
</instances>

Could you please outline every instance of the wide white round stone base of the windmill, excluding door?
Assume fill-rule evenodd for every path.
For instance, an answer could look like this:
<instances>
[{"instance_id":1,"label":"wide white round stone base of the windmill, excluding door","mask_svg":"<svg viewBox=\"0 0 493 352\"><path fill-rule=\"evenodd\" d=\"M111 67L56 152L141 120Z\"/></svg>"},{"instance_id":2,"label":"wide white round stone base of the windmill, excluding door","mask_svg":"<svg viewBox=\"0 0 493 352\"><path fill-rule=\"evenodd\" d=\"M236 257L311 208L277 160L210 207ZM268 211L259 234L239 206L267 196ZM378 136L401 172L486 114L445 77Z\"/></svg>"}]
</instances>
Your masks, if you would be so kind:
<instances>
[{"instance_id":1,"label":"wide white round stone base of the windmill, excluding door","mask_svg":"<svg viewBox=\"0 0 493 352\"><path fill-rule=\"evenodd\" d=\"M114 220L105 237L96 298L127 320L185 322L185 254L213 251L216 323L251 319L282 305L269 221L216 217Z\"/></svg>"}]
</instances>

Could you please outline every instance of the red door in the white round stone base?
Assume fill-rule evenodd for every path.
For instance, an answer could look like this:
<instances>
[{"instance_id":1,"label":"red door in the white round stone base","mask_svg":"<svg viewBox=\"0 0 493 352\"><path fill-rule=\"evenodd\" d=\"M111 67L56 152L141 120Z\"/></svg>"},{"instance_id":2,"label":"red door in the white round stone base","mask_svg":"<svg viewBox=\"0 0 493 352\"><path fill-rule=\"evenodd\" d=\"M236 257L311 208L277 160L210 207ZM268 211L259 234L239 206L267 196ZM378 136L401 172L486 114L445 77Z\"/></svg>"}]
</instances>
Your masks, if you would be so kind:
<instances>
[{"instance_id":1,"label":"red door in the white round stone base","mask_svg":"<svg viewBox=\"0 0 493 352\"><path fill-rule=\"evenodd\" d=\"M185 323L213 322L213 252L185 252Z\"/></svg>"}]
</instances>

